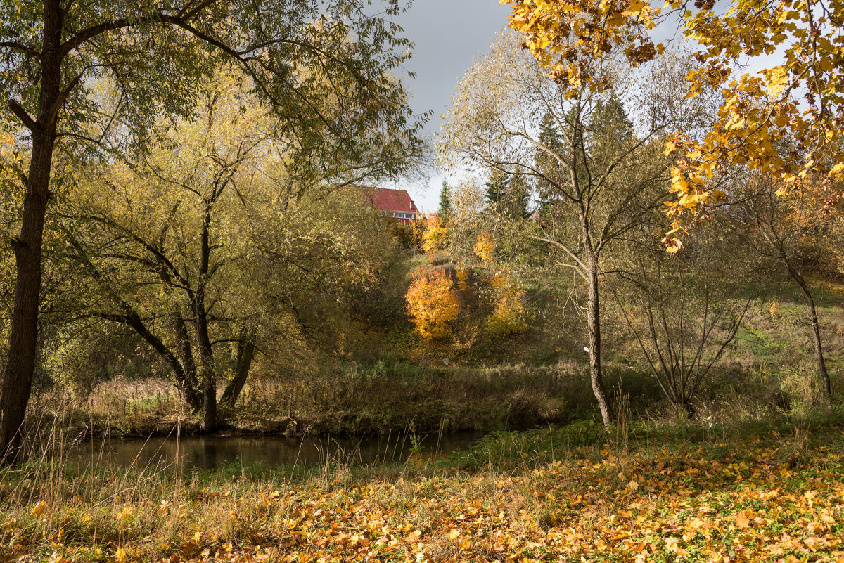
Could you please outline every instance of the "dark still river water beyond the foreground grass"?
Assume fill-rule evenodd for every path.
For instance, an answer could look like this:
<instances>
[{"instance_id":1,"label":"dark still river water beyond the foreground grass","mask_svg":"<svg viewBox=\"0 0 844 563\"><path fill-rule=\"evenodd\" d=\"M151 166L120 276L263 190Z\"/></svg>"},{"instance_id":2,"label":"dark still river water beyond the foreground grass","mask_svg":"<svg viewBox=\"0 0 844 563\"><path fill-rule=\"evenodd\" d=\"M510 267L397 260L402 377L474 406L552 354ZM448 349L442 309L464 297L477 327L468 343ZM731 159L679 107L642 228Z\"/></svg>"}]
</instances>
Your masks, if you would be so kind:
<instances>
[{"instance_id":1,"label":"dark still river water beyond the foreground grass","mask_svg":"<svg viewBox=\"0 0 844 563\"><path fill-rule=\"evenodd\" d=\"M483 432L458 432L419 442L424 455L446 455L468 448ZM362 438L333 437L150 437L95 438L72 448L68 461L111 467L217 469L240 458L245 464L381 464L408 458L413 440L407 435ZM414 448L415 449L415 448Z\"/></svg>"}]
</instances>

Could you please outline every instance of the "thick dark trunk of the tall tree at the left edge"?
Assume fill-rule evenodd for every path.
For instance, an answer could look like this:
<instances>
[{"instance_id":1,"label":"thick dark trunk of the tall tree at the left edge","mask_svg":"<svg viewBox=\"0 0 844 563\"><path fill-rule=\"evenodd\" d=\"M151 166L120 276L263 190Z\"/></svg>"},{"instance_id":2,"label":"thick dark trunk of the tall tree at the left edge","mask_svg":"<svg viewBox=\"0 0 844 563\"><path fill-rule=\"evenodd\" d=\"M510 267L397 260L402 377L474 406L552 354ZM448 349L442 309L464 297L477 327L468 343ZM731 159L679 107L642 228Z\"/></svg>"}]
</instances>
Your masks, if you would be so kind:
<instances>
[{"instance_id":1,"label":"thick dark trunk of the tall tree at the left edge","mask_svg":"<svg viewBox=\"0 0 844 563\"><path fill-rule=\"evenodd\" d=\"M41 56L41 93L35 123L26 123L32 134L32 158L25 180L26 195L20 234L11 240L14 248L17 280L14 290L12 327L9 335L8 362L0 398L0 460L17 459L21 426L32 391L38 340L38 305L41 293L41 246L44 217L50 199L50 175L56 142L54 105L60 102L62 59L61 12L56 0L44 3L44 30ZM9 102L12 106L14 103ZM16 104L14 104L17 106ZM15 111L19 110L19 111ZM19 107L13 109L18 115ZM20 116L20 115L19 115Z\"/></svg>"}]
</instances>

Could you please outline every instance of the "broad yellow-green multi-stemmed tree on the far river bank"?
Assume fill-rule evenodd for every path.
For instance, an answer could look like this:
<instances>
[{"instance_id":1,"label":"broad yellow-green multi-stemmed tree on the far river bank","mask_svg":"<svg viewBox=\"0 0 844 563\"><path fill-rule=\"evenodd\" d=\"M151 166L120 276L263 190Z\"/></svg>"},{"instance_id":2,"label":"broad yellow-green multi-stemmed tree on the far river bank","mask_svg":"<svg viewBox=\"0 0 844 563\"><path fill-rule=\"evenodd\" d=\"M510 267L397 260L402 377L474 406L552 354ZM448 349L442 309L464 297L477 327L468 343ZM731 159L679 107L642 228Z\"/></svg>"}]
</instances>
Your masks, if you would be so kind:
<instances>
[{"instance_id":1,"label":"broad yellow-green multi-stemmed tree on the far river bank","mask_svg":"<svg viewBox=\"0 0 844 563\"><path fill-rule=\"evenodd\" d=\"M125 325L160 355L204 432L217 424L220 358L234 349L220 399L233 406L255 355L271 357L273 342L327 318L321 296L334 302L332 286L371 281L389 247L354 190L295 175L295 152L238 81L218 72L196 118L161 130L135 158L88 172L73 192L78 228L67 231L80 271L104 296L88 314ZM372 162L396 158L379 156ZM333 165L330 177L349 174L349 184L383 172Z\"/></svg>"}]
</instances>

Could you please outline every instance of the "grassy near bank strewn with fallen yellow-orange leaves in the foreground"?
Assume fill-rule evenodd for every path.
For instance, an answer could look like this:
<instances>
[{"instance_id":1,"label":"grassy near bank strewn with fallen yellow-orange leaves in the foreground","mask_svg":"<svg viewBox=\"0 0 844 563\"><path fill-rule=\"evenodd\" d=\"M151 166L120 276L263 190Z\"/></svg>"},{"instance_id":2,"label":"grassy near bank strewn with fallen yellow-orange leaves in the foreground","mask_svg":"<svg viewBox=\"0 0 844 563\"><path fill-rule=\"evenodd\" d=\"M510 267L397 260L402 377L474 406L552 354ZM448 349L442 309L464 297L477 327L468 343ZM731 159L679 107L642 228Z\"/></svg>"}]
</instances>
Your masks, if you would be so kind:
<instances>
[{"instance_id":1,"label":"grassy near bank strewn with fallen yellow-orange leaves in the foreground","mask_svg":"<svg viewBox=\"0 0 844 563\"><path fill-rule=\"evenodd\" d=\"M52 490L62 498L17 510L6 501L20 483L9 482L0 553L54 563L844 563L841 429L830 436L579 448L506 472L414 466L300 485L194 477L149 491L124 480L122 495L101 484L86 497L68 480Z\"/></svg>"}]
</instances>

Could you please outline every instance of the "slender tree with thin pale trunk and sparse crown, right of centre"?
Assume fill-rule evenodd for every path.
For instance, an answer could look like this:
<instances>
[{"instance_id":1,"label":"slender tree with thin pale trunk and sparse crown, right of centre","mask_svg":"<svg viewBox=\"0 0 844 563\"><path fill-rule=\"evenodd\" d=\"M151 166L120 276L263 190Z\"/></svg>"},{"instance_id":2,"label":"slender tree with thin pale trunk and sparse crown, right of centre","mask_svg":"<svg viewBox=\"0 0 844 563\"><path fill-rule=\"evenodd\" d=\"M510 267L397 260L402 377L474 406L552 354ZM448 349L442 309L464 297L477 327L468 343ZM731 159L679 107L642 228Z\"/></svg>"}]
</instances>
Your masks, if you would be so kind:
<instances>
[{"instance_id":1,"label":"slender tree with thin pale trunk and sparse crown, right of centre","mask_svg":"<svg viewBox=\"0 0 844 563\"><path fill-rule=\"evenodd\" d=\"M550 78L514 34L502 35L463 77L440 145L446 160L542 186L540 220L522 232L587 286L589 373L604 424L610 414L601 369L601 276L614 243L662 205L670 164L663 136L694 114L682 97L661 94L682 72L676 62L639 80L622 79L629 69L612 63L584 62L603 77L600 91L593 90ZM636 126L621 99L636 110Z\"/></svg>"}]
</instances>

